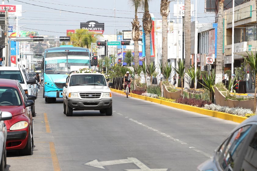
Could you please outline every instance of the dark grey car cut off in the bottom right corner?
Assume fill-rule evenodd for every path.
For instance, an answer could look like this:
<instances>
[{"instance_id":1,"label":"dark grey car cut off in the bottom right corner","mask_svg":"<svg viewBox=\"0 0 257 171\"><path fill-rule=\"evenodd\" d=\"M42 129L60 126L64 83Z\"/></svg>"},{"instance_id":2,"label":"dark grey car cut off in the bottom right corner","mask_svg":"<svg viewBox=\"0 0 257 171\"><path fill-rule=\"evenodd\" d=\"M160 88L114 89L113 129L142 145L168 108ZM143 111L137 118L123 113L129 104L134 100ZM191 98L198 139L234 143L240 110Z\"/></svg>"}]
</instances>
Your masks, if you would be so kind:
<instances>
[{"instance_id":1,"label":"dark grey car cut off in the bottom right corner","mask_svg":"<svg viewBox=\"0 0 257 171\"><path fill-rule=\"evenodd\" d=\"M198 171L256 171L257 115L238 125Z\"/></svg>"}]
</instances>

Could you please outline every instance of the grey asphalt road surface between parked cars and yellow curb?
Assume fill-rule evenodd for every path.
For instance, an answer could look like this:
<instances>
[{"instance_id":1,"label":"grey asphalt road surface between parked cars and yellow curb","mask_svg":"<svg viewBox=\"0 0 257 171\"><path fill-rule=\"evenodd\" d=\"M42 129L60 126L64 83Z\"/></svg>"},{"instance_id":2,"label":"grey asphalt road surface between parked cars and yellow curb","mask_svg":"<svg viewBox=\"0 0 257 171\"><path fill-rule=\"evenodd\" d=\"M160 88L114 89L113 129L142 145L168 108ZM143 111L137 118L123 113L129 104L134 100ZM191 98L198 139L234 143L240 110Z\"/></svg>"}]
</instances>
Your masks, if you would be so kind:
<instances>
[{"instance_id":1,"label":"grey asphalt road surface between parked cars and yellow curb","mask_svg":"<svg viewBox=\"0 0 257 171\"><path fill-rule=\"evenodd\" d=\"M113 93L113 116L63 114L36 100L34 151L7 153L5 171L196 170L238 123Z\"/></svg>"}]
</instances>

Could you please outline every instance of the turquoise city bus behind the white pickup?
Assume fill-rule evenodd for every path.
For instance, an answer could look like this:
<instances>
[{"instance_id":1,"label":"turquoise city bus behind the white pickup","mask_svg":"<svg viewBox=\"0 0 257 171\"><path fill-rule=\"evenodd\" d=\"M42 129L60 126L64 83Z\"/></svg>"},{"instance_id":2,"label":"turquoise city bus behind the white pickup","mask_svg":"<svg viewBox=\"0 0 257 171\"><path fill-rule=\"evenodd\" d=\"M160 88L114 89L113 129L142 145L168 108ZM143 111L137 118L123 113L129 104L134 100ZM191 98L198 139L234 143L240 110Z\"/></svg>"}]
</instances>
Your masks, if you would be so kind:
<instances>
[{"instance_id":1,"label":"turquoise city bus behind the white pickup","mask_svg":"<svg viewBox=\"0 0 257 171\"><path fill-rule=\"evenodd\" d=\"M45 102L52 103L63 98L63 86L71 71L91 68L90 52L87 48L64 45L45 49L41 68L44 72Z\"/></svg>"}]
</instances>

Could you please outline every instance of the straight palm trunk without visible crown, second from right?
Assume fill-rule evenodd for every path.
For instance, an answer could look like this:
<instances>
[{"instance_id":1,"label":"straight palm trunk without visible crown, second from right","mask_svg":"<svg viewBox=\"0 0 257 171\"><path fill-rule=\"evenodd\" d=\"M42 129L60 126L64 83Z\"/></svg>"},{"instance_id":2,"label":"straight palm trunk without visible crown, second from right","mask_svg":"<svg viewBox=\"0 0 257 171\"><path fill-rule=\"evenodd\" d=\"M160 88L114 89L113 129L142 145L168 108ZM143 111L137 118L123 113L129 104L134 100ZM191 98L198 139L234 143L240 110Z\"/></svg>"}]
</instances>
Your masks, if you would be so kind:
<instances>
[{"instance_id":1,"label":"straight palm trunk without visible crown, second from right","mask_svg":"<svg viewBox=\"0 0 257 171\"><path fill-rule=\"evenodd\" d=\"M190 68L190 54L191 54L191 2L190 0L185 0L185 17L184 17L184 32L185 32L185 68ZM189 80L187 74L185 75L186 80ZM187 85L185 85L187 87ZM190 87L190 86L189 86Z\"/></svg>"}]
</instances>

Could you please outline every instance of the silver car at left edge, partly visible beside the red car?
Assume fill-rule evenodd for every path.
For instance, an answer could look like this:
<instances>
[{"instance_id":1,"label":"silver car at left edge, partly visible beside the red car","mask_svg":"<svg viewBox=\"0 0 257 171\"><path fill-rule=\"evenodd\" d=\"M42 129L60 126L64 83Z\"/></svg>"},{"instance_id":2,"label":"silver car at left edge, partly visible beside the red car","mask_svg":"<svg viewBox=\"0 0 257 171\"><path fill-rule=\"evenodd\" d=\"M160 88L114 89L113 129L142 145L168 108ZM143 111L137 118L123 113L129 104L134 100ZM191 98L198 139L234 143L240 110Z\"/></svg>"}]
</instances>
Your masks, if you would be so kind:
<instances>
[{"instance_id":1,"label":"silver car at left edge, partly visible beside the red car","mask_svg":"<svg viewBox=\"0 0 257 171\"><path fill-rule=\"evenodd\" d=\"M4 120L12 119L12 114L10 112L2 112L0 110L0 171L4 171L6 167L6 137L7 137L7 129L4 123Z\"/></svg>"}]
</instances>

